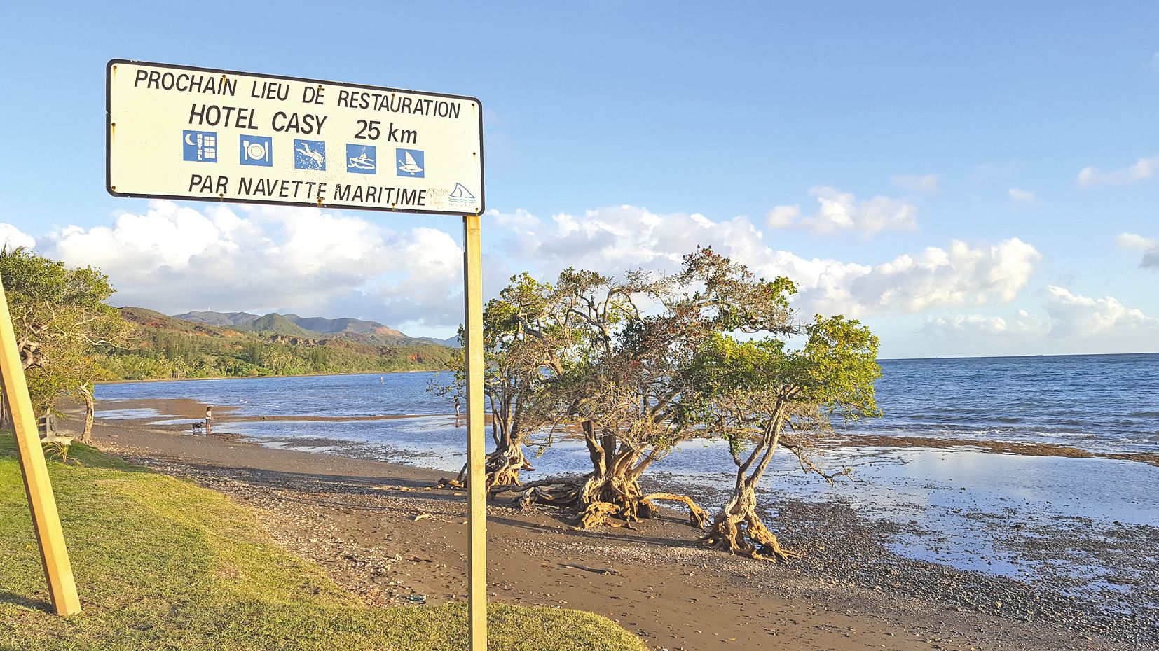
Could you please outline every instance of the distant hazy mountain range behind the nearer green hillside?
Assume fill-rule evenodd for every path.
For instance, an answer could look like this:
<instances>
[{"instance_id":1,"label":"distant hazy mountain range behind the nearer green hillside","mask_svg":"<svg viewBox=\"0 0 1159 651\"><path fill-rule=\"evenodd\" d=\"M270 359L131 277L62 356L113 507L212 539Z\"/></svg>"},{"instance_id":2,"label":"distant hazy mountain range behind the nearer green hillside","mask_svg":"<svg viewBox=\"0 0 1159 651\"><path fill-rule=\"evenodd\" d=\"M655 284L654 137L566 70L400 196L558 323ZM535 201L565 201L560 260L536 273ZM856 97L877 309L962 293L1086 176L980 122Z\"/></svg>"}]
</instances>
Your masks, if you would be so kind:
<instances>
[{"instance_id":1,"label":"distant hazy mountain range behind the nearer green hillside","mask_svg":"<svg viewBox=\"0 0 1159 651\"><path fill-rule=\"evenodd\" d=\"M362 319L323 319L321 316L298 316L297 314L270 313L265 315L248 312L196 310L175 314L174 319L229 328L243 332L265 332L286 337L311 339L342 338L372 345L422 345L459 348L459 338L436 339L410 337L377 321Z\"/></svg>"}]
</instances>

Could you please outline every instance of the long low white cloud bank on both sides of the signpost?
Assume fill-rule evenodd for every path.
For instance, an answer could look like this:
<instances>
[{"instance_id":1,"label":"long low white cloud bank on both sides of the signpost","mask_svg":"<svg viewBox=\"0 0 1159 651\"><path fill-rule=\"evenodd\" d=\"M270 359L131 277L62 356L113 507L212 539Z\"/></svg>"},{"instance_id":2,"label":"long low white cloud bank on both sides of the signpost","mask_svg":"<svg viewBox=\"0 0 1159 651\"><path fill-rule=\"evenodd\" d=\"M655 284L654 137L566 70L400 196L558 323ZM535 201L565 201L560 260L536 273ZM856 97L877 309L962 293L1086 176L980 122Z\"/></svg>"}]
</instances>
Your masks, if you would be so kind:
<instances>
[{"instance_id":1,"label":"long low white cloud bank on both sides of the signpost","mask_svg":"<svg viewBox=\"0 0 1159 651\"><path fill-rule=\"evenodd\" d=\"M490 211L484 222L488 242L501 254L484 258L489 291L505 283L506 261L545 278L566 266L671 271L685 254L710 246L760 276L796 280L794 306L806 315L1000 305L1026 286L1041 258L1018 239L984 246L952 241L876 264L807 258L765 246L746 217L715 221L628 205L551 219ZM71 265L102 268L118 290L117 305L169 314L292 309L425 331L451 330L461 321L462 251L435 228L395 232L318 209L195 210L156 200L144 213L122 213L111 226L70 226L37 243Z\"/></svg>"}]
</instances>

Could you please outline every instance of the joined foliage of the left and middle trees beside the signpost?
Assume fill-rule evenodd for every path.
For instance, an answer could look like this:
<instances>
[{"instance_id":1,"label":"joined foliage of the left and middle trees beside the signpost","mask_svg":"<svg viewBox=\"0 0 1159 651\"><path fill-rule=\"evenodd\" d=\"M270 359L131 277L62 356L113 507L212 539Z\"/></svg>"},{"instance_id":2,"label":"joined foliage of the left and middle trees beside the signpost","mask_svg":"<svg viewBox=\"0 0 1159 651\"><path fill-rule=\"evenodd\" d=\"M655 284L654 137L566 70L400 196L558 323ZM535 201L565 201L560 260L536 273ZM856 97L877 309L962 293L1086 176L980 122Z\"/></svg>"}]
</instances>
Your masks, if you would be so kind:
<instances>
[{"instance_id":1,"label":"joined foliage of the left and middle trees beside the signpost","mask_svg":"<svg viewBox=\"0 0 1159 651\"><path fill-rule=\"evenodd\" d=\"M685 256L675 273L569 268L554 284L513 277L484 314L493 412L503 415L498 424L525 415L540 427L581 423L593 476L635 485L649 465L704 433L693 409L698 352L726 332L790 334L795 291L788 278L758 278L710 248Z\"/></svg>"}]
</instances>

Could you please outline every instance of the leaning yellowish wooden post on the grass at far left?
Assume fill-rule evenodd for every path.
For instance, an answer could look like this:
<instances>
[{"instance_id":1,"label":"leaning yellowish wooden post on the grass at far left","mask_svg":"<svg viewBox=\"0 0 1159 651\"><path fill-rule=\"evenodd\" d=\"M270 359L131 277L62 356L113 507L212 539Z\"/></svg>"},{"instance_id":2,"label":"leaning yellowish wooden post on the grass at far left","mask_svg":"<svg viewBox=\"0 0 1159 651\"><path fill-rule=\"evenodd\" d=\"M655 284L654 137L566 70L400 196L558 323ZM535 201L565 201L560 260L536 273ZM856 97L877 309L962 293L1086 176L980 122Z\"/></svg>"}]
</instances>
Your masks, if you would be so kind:
<instances>
[{"instance_id":1,"label":"leaning yellowish wooden post on the grass at far left","mask_svg":"<svg viewBox=\"0 0 1159 651\"><path fill-rule=\"evenodd\" d=\"M12 329L8 298L5 295L2 284L0 284L0 375L2 375L5 397L12 410L13 430L16 432L16 458L20 460L20 471L24 475L24 491L28 495L28 507L32 512L36 541L41 547L44 576L49 579L52 607L58 615L80 613L76 583L73 580L72 565L68 563L68 550L65 549L65 534L60 531L57 502L52 497L52 484L49 482L49 467L44 462L41 434L36 429L32 401L28 397L24 367L20 363L16 334Z\"/></svg>"}]
</instances>

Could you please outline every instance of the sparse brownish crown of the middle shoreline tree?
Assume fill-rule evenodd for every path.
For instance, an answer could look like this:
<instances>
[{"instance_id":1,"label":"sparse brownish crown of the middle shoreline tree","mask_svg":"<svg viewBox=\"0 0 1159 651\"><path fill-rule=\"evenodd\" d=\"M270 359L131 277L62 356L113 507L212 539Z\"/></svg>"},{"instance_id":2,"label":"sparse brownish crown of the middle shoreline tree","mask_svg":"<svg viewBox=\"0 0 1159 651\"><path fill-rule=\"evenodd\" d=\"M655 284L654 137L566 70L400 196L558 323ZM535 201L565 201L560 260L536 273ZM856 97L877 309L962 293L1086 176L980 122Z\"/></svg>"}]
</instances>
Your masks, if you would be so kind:
<instances>
[{"instance_id":1,"label":"sparse brownish crown of the middle shoreline tree","mask_svg":"<svg viewBox=\"0 0 1159 651\"><path fill-rule=\"evenodd\" d=\"M649 449L651 462L698 434L680 417L697 389L687 370L697 352L723 332L790 331L795 291L788 278L758 278L710 248L686 255L666 276L564 271L555 301L574 332L560 382L568 408L627 448Z\"/></svg>"}]
</instances>

